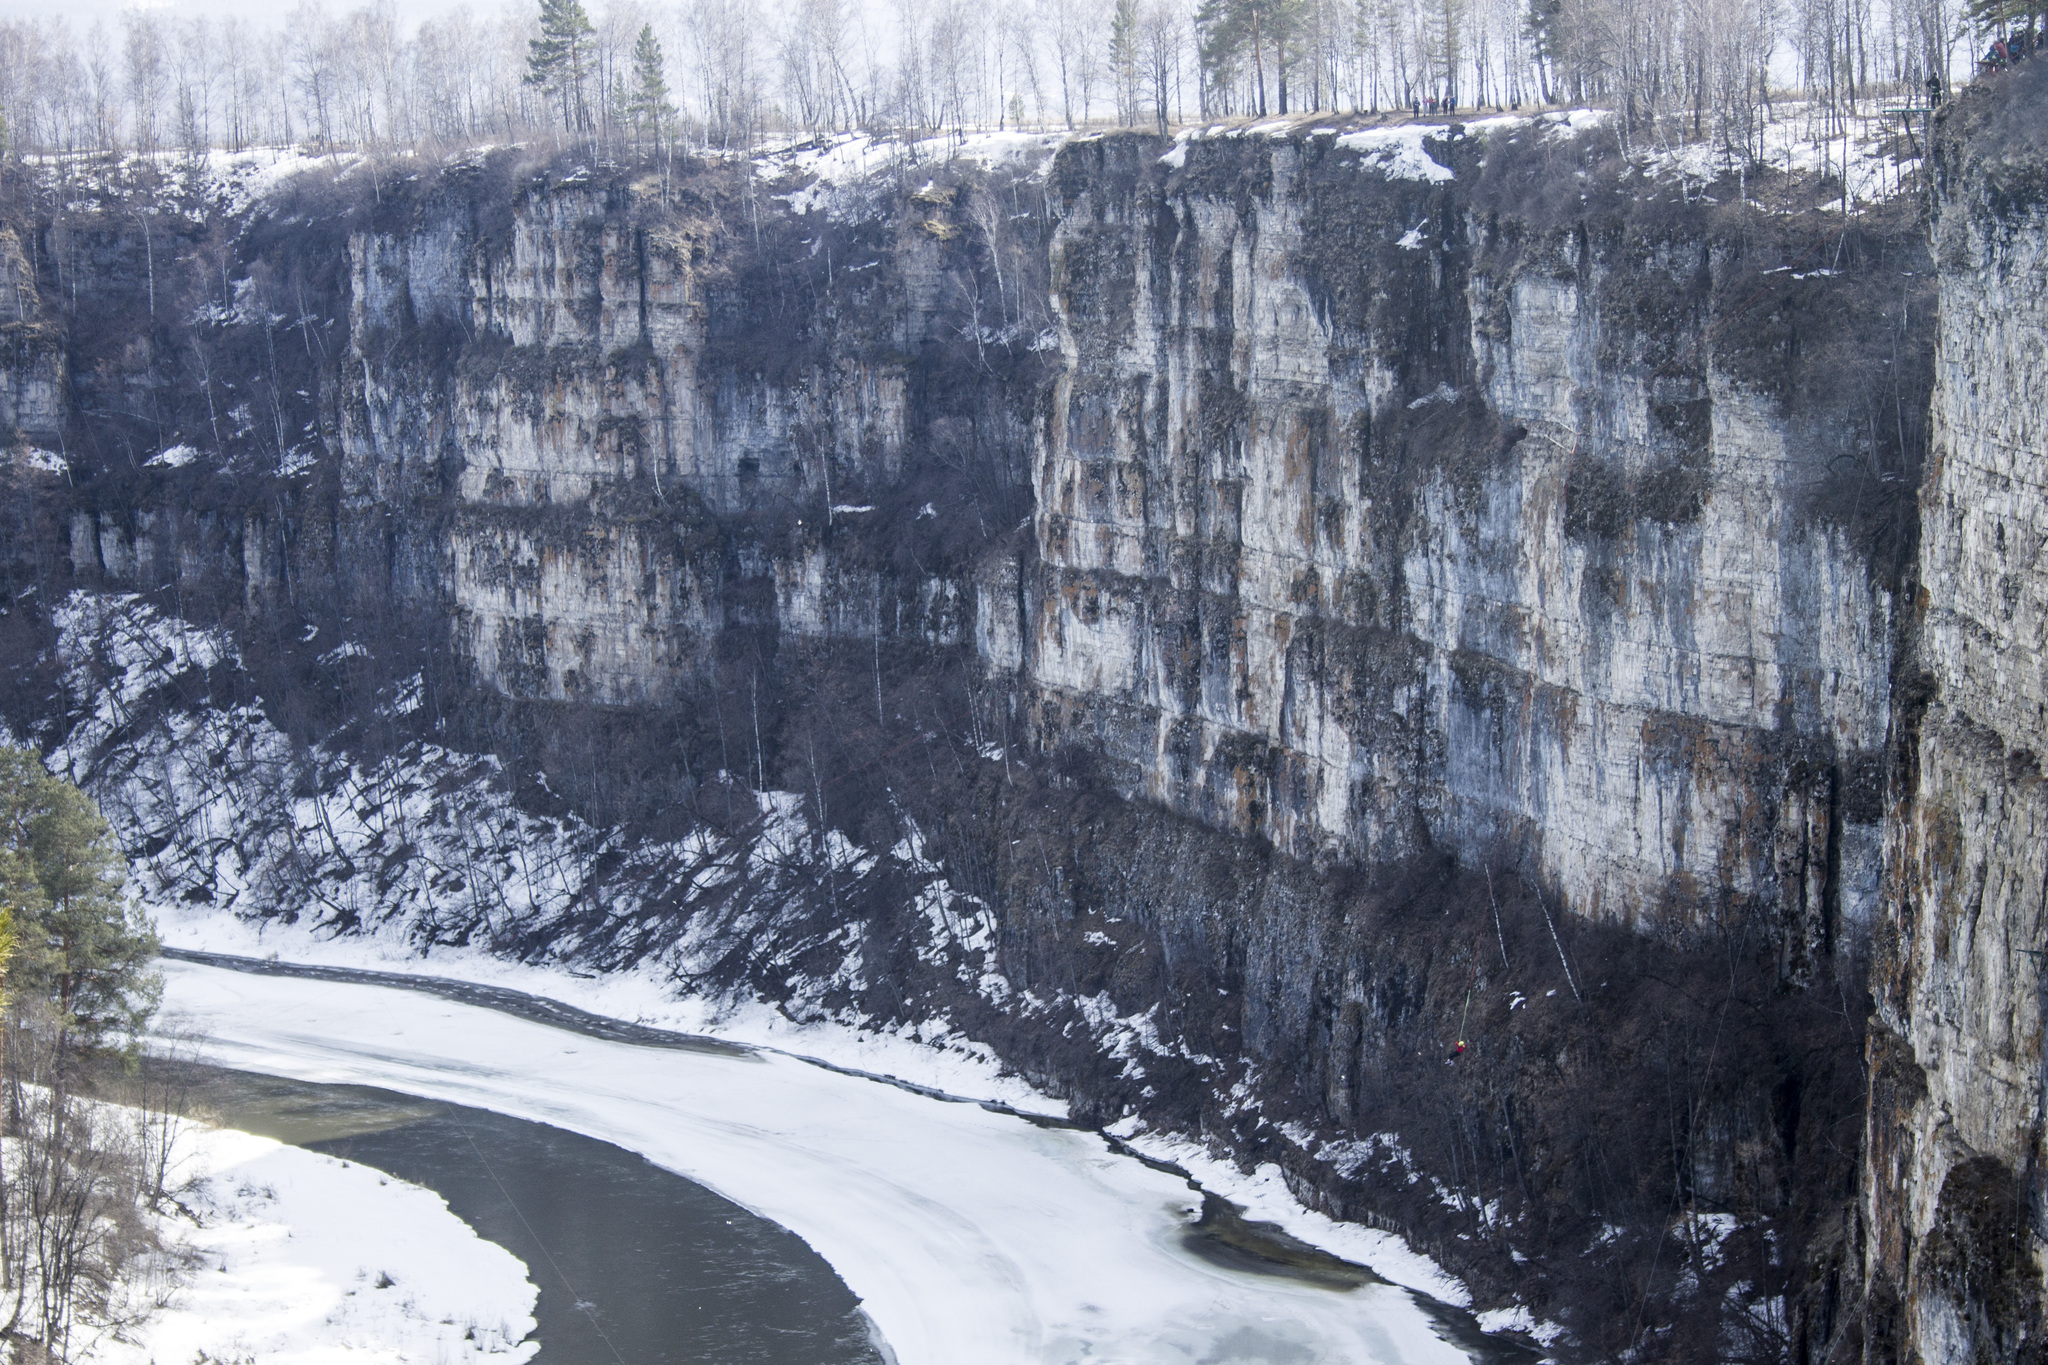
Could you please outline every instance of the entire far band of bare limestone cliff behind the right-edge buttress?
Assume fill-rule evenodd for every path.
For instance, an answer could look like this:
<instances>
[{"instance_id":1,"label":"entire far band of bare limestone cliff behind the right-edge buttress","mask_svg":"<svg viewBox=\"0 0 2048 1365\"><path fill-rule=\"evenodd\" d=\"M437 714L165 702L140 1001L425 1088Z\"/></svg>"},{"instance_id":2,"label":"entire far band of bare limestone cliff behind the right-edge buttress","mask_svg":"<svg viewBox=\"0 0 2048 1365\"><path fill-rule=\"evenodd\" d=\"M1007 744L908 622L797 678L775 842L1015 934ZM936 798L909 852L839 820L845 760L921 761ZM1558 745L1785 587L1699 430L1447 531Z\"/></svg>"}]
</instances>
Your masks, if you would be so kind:
<instances>
[{"instance_id":1,"label":"entire far band of bare limestone cliff behind the right-edge buttress","mask_svg":"<svg viewBox=\"0 0 2048 1365\"><path fill-rule=\"evenodd\" d=\"M1597 139L1116 135L829 209L455 164L340 241L276 456L332 503L82 510L72 561L397 604L535 702L676 698L733 632L967 647L1126 794L1761 911L1798 976L1876 898L1894 636L1835 505L1882 424L1800 379L1880 360L1798 329L1911 229L1808 270Z\"/></svg>"}]
</instances>

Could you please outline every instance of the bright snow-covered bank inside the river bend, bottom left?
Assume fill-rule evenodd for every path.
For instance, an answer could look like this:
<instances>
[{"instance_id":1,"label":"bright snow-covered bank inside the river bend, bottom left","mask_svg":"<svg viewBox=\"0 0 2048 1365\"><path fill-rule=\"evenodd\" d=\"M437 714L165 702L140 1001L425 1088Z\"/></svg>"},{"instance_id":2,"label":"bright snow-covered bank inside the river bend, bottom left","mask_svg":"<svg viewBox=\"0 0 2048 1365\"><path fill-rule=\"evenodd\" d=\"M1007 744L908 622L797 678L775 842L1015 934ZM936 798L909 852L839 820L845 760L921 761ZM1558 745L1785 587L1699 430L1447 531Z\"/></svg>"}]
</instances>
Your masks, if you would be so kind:
<instances>
[{"instance_id":1,"label":"bright snow-covered bank inside the river bend, bottom left","mask_svg":"<svg viewBox=\"0 0 2048 1365\"><path fill-rule=\"evenodd\" d=\"M197 1226L170 1306L106 1365L520 1365L539 1342L526 1267L440 1195L369 1166L233 1130L193 1130ZM201 1355L203 1353L203 1355Z\"/></svg>"}]
</instances>

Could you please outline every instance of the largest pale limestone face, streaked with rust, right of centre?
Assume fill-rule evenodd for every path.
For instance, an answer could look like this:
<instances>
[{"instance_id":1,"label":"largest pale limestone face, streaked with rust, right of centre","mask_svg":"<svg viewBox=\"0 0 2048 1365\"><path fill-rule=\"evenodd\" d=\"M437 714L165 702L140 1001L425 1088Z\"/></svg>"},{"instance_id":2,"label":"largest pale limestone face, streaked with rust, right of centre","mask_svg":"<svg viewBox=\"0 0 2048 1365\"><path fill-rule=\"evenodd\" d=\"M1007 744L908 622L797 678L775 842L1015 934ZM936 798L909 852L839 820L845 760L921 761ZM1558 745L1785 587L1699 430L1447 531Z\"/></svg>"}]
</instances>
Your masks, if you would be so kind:
<instances>
[{"instance_id":1,"label":"largest pale limestone face, streaked with rust, right of centre","mask_svg":"<svg viewBox=\"0 0 2048 1365\"><path fill-rule=\"evenodd\" d=\"M1817 945L1878 870L1892 596L1810 495L1853 434L1724 354L1778 260L1491 203L1542 139L1069 151L1040 729L1296 855Z\"/></svg>"}]
</instances>

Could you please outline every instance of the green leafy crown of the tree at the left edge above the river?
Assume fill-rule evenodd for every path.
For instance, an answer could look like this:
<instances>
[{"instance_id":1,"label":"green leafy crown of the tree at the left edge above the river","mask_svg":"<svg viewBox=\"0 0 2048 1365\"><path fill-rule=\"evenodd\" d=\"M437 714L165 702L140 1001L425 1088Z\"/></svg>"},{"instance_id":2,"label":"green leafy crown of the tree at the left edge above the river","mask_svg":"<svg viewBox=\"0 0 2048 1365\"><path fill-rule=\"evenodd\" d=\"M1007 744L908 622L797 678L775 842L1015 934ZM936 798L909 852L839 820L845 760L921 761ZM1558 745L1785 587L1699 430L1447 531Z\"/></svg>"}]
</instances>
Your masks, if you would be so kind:
<instances>
[{"instance_id":1,"label":"green leafy crown of the tree at the left edge above the river","mask_svg":"<svg viewBox=\"0 0 2048 1365\"><path fill-rule=\"evenodd\" d=\"M156 933L92 800L27 749L0 749L0 907L18 939L12 997L49 1003L86 1048L125 1044L156 1011Z\"/></svg>"}]
</instances>

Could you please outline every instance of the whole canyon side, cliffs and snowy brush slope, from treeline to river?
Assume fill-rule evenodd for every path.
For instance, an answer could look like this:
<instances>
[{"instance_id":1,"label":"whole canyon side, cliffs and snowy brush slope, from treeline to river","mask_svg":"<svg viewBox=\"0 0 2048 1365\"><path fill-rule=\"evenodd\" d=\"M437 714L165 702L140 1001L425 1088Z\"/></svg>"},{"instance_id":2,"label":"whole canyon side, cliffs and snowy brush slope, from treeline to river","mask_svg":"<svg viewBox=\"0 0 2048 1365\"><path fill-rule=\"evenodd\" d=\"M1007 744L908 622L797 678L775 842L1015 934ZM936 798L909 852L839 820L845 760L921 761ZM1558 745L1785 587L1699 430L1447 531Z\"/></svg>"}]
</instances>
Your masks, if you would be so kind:
<instances>
[{"instance_id":1,"label":"whole canyon side, cliffs and snowy brush slope, from treeline to river","mask_svg":"<svg viewBox=\"0 0 2048 1365\"><path fill-rule=\"evenodd\" d=\"M1571 1359L2025 1359L2042 84L1853 215L1583 111L12 166L0 722L166 921L971 1040Z\"/></svg>"}]
</instances>

